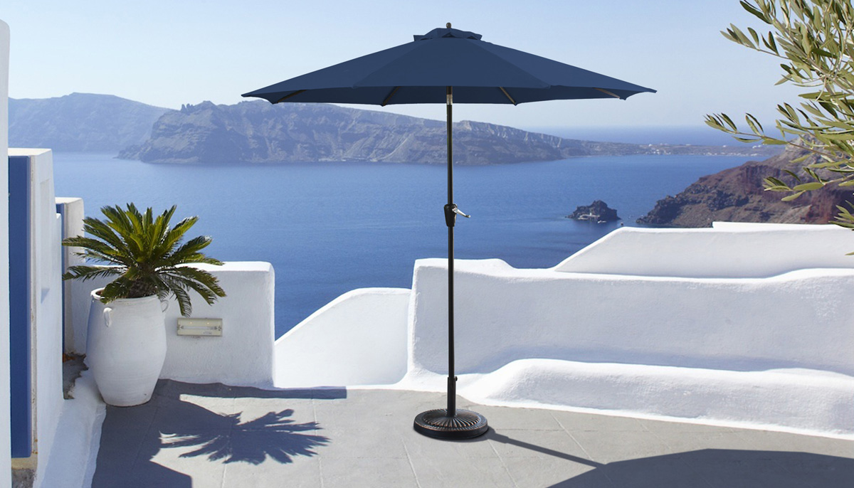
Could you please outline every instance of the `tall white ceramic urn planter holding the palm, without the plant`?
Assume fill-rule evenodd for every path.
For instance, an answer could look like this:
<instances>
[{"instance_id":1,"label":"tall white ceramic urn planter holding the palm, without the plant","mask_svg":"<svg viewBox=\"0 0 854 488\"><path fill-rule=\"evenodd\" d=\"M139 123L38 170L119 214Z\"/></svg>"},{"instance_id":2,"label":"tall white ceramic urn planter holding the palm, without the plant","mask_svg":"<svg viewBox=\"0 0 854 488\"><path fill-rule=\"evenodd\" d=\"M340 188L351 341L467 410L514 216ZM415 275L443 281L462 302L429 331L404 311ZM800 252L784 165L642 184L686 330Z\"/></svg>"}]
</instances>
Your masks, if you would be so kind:
<instances>
[{"instance_id":1,"label":"tall white ceramic urn planter holding the palm, without the plant","mask_svg":"<svg viewBox=\"0 0 854 488\"><path fill-rule=\"evenodd\" d=\"M101 302L89 308L86 363L104 402L119 407L151 399L166 360L165 305L157 297Z\"/></svg>"}]
</instances>

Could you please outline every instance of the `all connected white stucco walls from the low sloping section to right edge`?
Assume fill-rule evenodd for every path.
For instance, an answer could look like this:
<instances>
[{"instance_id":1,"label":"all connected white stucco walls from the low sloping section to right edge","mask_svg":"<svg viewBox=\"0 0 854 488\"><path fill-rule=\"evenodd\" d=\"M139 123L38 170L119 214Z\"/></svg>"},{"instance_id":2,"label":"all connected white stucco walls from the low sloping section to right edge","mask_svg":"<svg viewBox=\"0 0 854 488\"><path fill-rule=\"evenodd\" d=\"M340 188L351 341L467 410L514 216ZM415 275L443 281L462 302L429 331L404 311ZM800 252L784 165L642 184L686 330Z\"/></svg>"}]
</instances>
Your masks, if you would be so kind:
<instances>
[{"instance_id":1,"label":"all connected white stucco walls from the low sloping section to right edge","mask_svg":"<svg viewBox=\"0 0 854 488\"><path fill-rule=\"evenodd\" d=\"M852 435L854 318L839 298L854 287L851 250L854 235L834 226L717 224L619 229L549 270L460 260L459 392L493 404ZM394 378L442 390L446 266L416 262L406 313L405 291L362 290L309 317L277 342L277 385ZM397 360L377 368L403 347L406 375ZM293 353L320 349L317 360Z\"/></svg>"}]
</instances>

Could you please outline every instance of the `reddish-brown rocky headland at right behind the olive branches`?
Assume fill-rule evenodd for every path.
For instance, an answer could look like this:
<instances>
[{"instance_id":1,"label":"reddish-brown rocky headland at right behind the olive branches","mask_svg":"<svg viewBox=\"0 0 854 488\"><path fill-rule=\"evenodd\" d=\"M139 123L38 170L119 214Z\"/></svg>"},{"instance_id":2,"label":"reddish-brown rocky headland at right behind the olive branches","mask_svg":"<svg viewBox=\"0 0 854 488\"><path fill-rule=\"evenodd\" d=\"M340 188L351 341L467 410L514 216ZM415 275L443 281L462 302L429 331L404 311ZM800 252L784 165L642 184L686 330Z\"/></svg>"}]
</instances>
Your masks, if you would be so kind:
<instances>
[{"instance_id":1,"label":"reddish-brown rocky headland at right behind the olive branches","mask_svg":"<svg viewBox=\"0 0 854 488\"><path fill-rule=\"evenodd\" d=\"M802 150L789 147L767 160L749 161L701 177L679 195L658 200L652 212L638 219L638 224L708 227L716 220L827 224L833 220L836 206L844 205L846 200L854 201L851 189L828 186L807 192L793 201L781 201L787 194L763 189L766 177L780 178L790 186L794 184L793 178L783 170L795 171L798 166L791 161L802 155Z\"/></svg>"}]
</instances>

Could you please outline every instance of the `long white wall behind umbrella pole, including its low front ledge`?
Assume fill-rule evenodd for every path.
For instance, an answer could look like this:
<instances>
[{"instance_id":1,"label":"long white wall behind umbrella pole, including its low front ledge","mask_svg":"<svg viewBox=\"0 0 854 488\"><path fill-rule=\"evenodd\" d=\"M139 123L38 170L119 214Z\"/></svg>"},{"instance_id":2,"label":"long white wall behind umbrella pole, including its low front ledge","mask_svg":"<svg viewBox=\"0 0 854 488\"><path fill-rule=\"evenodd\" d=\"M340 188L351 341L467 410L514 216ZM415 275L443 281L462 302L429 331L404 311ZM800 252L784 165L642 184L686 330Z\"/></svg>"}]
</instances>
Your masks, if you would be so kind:
<instances>
[{"instance_id":1,"label":"long white wall behind umbrella pole, including its low front ledge","mask_svg":"<svg viewBox=\"0 0 854 488\"><path fill-rule=\"evenodd\" d=\"M854 310L839 299L854 269L684 278L489 259L456 270L456 373L473 401L854 436ZM408 387L443 388L446 283L444 259L416 263Z\"/></svg>"}]
</instances>

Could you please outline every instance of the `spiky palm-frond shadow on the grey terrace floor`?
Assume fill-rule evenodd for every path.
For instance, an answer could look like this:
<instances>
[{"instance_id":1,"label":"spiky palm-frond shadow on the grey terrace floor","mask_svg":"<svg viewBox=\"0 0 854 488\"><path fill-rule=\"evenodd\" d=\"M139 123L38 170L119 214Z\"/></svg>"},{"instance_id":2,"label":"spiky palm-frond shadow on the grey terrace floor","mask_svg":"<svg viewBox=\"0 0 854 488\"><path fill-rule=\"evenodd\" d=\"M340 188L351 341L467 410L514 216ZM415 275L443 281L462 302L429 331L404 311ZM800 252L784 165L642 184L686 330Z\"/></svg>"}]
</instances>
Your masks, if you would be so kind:
<instances>
[{"instance_id":1,"label":"spiky palm-frond shadow on the grey terrace floor","mask_svg":"<svg viewBox=\"0 0 854 488\"><path fill-rule=\"evenodd\" d=\"M281 462L293 462L295 456L314 456L314 450L329 443L322 435L307 433L319 429L317 422L295 423L289 419L294 410L268 412L253 421L241 422L240 415L218 415L217 427L170 429L161 431L164 448L195 447L180 457L208 456L209 461L249 462L260 464L267 457Z\"/></svg>"}]
</instances>

